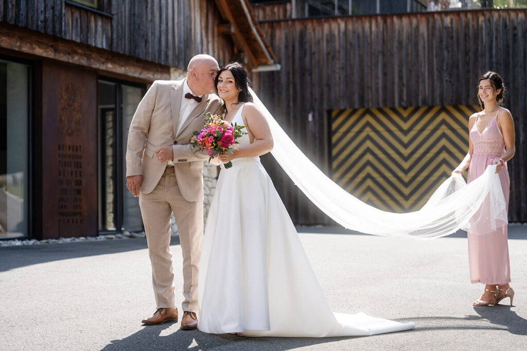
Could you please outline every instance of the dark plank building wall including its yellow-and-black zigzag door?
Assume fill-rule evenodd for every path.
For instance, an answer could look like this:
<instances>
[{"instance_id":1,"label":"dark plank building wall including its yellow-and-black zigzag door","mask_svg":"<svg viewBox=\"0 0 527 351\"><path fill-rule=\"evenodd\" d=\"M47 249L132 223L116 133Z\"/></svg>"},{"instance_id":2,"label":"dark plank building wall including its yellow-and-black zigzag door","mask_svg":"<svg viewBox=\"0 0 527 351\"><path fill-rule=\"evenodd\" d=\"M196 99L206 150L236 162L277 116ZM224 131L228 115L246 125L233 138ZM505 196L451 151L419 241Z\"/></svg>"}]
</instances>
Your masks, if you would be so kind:
<instances>
[{"instance_id":1,"label":"dark plank building wall including its yellow-and-black zigzag door","mask_svg":"<svg viewBox=\"0 0 527 351\"><path fill-rule=\"evenodd\" d=\"M282 68L256 77L261 100L329 177L376 207L416 209L450 176L478 79L499 72L516 130L509 219L527 222L525 9L268 20L290 12L272 6L255 14ZM331 223L265 162L295 223Z\"/></svg>"}]
</instances>

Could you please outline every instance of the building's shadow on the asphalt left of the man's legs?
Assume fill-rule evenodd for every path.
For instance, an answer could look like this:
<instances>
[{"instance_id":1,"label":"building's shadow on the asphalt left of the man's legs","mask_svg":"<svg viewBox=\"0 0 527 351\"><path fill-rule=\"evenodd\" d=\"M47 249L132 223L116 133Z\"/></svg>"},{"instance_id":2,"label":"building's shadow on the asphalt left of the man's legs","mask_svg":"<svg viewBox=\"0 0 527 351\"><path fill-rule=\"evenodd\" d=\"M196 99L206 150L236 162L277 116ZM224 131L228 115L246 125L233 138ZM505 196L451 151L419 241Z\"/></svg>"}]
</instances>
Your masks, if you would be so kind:
<instances>
[{"instance_id":1,"label":"building's shadow on the asphalt left of the man's legs","mask_svg":"<svg viewBox=\"0 0 527 351\"><path fill-rule=\"evenodd\" d=\"M172 237L170 245L179 245L179 237ZM146 248L147 239L144 238L2 247L0 248L0 272L44 262Z\"/></svg>"}]
</instances>

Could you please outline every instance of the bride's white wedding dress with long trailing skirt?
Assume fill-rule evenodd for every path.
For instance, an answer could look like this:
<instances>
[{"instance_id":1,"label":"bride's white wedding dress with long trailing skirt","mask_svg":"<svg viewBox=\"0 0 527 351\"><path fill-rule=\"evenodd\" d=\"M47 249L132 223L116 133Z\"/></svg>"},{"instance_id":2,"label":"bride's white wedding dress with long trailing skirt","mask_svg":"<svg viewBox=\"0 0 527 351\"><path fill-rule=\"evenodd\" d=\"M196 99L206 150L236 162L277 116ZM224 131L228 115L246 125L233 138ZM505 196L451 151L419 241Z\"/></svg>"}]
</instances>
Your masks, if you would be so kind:
<instances>
[{"instance_id":1,"label":"bride's white wedding dress with long trailing skirt","mask_svg":"<svg viewBox=\"0 0 527 351\"><path fill-rule=\"evenodd\" d=\"M233 122L243 125L238 110ZM239 139L240 146L249 136ZM222 168L199 271L199 329L246 336L364 336L414 328L333 313L259 157Z\"/></svg>"}]
</instances>

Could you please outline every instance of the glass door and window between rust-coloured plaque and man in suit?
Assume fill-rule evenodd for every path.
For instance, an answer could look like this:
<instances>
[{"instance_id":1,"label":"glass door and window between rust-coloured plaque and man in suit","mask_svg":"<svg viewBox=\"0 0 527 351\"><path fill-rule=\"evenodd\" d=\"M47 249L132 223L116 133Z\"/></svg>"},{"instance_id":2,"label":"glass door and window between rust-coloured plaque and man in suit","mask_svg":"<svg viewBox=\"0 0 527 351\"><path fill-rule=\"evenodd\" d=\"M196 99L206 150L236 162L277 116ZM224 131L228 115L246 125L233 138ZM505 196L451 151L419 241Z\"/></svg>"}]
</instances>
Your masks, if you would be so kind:
<instances>
[{"instance_id":1,"label":"glass door and window between rust-coloured plaque and man in suit","mask_svg":"<svg viewBox=\"0 0 527 351\"><path fill-rule=\"evenodd\" d=\"M139 200L126 189L126 142L144 87L100 80L99 231L140 231Z\"/></svg>"}]
</instances>

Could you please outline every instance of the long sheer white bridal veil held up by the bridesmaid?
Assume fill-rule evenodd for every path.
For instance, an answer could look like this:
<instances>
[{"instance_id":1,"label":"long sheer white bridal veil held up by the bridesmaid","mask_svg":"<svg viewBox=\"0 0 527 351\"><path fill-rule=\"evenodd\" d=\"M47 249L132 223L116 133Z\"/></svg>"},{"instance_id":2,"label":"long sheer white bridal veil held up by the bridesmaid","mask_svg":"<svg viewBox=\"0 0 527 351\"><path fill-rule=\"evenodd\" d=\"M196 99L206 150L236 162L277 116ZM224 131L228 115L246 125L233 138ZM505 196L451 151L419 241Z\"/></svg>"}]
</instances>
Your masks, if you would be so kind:
<instances>
[{"instance_id":1,"label":"long sheer white bridal veil held up by the bridesmaid","mask_svg":"<svg viewBox=\"0 0 527 351\"><path fill-rule=\"evenodd\" d=\"M496 165L487 167L470 184L460 174L448 178L418 211L382 211L355 198L320 171L288 137L256 93L251 90L251 94L269 122L275 141L273 157L309 200L341 226L378 236L433 239L458 229L485 234L507 225ZM487 218L488 213L491 216Z\"/></svg>"}]
</instances>

